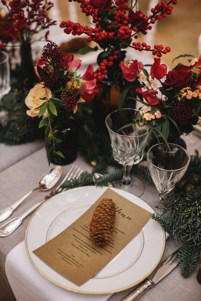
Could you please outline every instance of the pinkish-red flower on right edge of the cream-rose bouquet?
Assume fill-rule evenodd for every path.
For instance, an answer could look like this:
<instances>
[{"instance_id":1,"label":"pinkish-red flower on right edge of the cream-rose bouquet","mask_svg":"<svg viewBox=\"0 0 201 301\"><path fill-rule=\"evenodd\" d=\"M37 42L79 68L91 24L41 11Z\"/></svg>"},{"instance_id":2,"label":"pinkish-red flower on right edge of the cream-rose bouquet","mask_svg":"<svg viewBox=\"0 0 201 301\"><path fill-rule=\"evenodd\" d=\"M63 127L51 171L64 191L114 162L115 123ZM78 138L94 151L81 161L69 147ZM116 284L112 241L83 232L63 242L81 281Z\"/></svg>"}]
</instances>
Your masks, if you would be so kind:
<instances>
[{"instance_id":1,"label":"pinkish-red flower on right edge of the cream-rose bouquet","mask_svg":"<svg viewBox=\"0 0 201 301\"><path fill-rule=\"evenodd\" d=\"M95 97L96 93L99 92L99 88L96 84L96 79L93 78L93 73L93 67L89 65L82 77L82 79L86 80L86 82L82 83L83 93L81 93L81 96L86 101L92 100Z\"/></svg>"}]
</instances>

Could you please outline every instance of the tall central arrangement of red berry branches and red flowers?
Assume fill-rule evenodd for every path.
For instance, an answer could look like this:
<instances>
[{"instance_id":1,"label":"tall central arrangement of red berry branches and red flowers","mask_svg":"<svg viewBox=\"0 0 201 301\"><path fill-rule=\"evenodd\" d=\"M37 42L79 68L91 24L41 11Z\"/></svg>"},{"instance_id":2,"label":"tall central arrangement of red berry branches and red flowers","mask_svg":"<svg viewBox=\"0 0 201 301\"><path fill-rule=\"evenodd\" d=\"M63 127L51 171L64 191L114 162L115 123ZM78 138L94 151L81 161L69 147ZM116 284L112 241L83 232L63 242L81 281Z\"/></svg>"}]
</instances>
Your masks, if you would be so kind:
<instances>
[{"instance_id":1,"label":"tall central arrangement of red berry branches and red flowers","mask_svg":"<svg viewBox=\"0 0 201 301\"><path fill-rule=\"evenodd\" d=\"M64 28L64 33L73 36L86 34L89 43L96 42L99 48L103 49L97 57L99 67L93 76L98 81L107 77L114 85L120 85L123 92L120 100L126 99L133 86L135 88L140 86L136 74L142 67L137 60L133 60L127 67L124 64L126 54L124 49L131 47L137 51L151 51L157 57L167 54L171 50L168 46L164 48L163 45L146 45L145 42L133 42L133 38L137 39L141 34L146 35L152 29L152 24L171 15L173 10L171 4L176 5L177 0L159 2L151 9L149 16L137 10L137 0L77 0L77 2L86 16L92 16L94 26L88 27L67 20L62 21L60 27ZM97 49L97 46L86 47L79 53L86 54Z\"/></svg>"}]
</instances>

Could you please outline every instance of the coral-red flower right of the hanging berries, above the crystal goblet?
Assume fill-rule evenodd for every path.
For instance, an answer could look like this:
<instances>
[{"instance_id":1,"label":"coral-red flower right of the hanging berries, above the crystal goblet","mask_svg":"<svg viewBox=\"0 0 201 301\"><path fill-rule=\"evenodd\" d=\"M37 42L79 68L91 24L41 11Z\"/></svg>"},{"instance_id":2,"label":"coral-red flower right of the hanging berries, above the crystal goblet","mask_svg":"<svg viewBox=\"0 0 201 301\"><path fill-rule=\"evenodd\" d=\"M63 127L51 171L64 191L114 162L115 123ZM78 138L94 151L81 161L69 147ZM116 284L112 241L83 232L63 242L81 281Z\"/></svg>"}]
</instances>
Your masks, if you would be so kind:
<instances>
[{"instance_id":1,"label":"coral-red flower right of the hanging berries, above the crystal goblet","mask_svg":"<svg viewBox=\"0 0 201 301\"><path fill-rule=\"evenodd\" d=\"M140 72L143 69L143 64L139 63L137 60L134 60L133 63L127 67L124 62L121 61L119 67L122 70L124 78L128 82L133 82L137 77L137 72Z\"/></svg>"}]
</instances>

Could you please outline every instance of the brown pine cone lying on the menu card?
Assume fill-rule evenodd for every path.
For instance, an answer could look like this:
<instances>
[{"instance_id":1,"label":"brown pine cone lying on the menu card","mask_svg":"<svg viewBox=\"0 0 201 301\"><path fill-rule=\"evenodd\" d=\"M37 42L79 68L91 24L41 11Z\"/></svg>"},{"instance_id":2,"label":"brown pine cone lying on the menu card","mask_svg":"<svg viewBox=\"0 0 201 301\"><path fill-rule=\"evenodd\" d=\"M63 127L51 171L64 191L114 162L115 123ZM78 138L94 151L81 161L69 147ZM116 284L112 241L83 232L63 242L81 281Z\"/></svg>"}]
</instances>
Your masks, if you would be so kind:
<instances>
[{"instance_id":1,"label":"brown pine cone lying on the menu card","mask_svg":"<svg viewBox=\"0 0 201 301\"><path fill-rule=\"evenodd\" d=\"M96 206L90 222L90 238L96 245L104 245L111 240L115 214L115 203L112 199L103 199Z\"/></svg>"}]
</instances>

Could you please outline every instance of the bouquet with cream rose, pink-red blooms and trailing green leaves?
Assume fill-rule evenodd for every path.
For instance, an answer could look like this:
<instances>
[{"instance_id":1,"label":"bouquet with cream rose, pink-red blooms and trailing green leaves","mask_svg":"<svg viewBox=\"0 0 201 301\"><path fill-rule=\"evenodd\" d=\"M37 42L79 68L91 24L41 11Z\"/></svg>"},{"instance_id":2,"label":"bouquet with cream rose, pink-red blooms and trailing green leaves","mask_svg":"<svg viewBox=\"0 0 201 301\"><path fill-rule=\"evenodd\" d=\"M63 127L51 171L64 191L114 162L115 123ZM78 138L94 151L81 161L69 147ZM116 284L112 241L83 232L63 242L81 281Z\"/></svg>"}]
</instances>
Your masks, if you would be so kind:
<instances>
[{"instance_id":1,"label":"bouquet with cream rose, pink-red blooms and trailing green leaves","mask_svg":"<svg viewBox=\"0 0 201 301\"><path fill-rule=\"evenodd\" d=\"M77 75L81 62L79 59L73 60L73 55L63 53L52 42L44 46L42 56L36 62L35 72L40 82L30 89L25 103L30 109L27 110L29 116L43 117L39 128L46 126L49 163L54 159L62 164L60 158L64 158L60 151L62 141L57 137L58 130L64 129L71 112L76 113L77 103L92 100L98 92L91 65L83 76ZM71 141L67 142L70 147Z\"/></svg>"}]
</instances>

